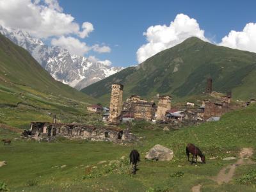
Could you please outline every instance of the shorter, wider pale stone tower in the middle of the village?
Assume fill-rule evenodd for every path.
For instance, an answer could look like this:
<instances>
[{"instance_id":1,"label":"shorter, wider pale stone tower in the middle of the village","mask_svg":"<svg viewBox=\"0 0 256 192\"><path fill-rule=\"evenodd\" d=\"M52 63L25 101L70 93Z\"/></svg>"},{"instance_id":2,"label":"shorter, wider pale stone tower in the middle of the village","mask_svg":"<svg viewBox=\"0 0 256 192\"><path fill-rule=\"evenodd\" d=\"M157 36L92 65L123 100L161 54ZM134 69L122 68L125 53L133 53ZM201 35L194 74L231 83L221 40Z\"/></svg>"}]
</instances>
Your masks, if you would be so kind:
<instances>
[{"instance_id":1,"label":"shorter, wider pale stone tower in the middle of the village","mask_svg":"<svg viewBox=\"0 0 256 192\"><path fill-rule=\"evenodd\" d=\"M158 97L156 120L164 120L166 111L171 109L171 99L169 95Z\"/></svg>"}]
</instances>

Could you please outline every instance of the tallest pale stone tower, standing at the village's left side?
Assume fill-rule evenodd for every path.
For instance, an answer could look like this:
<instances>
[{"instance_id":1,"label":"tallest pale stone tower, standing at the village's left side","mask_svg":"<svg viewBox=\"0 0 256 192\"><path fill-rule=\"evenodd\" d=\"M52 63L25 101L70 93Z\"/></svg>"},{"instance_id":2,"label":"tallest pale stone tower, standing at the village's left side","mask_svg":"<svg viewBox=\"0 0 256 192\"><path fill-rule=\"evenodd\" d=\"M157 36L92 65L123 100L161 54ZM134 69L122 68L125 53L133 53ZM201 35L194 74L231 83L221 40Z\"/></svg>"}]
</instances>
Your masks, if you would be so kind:
<instances>
[{"instance_id":1,"label":"tallest pale stone tower, standing at the village's left side","mask_svg":"<svg viewBox=\"0 0 256 192\"><path fill-rule=\"evenodd\" d=\"M109 123L118 124L122 112L123 88L122 84L112 84L110 106L109 106Z\"/></svg>"}]
</instances>

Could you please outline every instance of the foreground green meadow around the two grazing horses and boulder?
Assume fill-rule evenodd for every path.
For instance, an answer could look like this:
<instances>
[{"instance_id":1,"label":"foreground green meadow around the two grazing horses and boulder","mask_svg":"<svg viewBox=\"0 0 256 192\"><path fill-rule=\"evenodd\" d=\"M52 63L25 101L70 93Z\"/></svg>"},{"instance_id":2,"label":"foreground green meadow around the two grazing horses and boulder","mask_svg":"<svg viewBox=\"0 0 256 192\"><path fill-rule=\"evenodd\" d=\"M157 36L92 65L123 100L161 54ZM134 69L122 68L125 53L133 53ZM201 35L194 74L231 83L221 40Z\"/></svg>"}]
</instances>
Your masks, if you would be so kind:
<instances>
[{"instance_id":1,"label":"foreground green meadow around the two grazing horses and boulder","mask_svg":"<svg viewBox=\"0 0 256 192\"><path fill-rule=\"evenodd\" d=\"M255 164L237 166L228 184L218 185L211 180L221 168L236 162L223 161L223 157L238 157L242 147L254 149L255 161L255 114L256 106L250 106L227 113L220 122L170 132L164 132L158 125L137 122L130 128L143 139L134 145L13 140L11 146L0 145L0 161L7 162L0 167L0 182L6 183L10 191L190 191L197 184L202 184L201 191L255 191L256 180L251 179L251 184L239 182L255 170ZM0 131L0 139L17 137L13 132ZM188 163L185 147L189 142L202 149L206 164ZM146 152L156 144L171 148L173 160L146 161ZM127 156L132 148L141 154L136 175L127 174ZM122 156L126 156L124 160L120 159ZM120 165L109 165L111 160L120 161ZM107 163L98 164L100 161Z\"/></svg>"}]
</instances>

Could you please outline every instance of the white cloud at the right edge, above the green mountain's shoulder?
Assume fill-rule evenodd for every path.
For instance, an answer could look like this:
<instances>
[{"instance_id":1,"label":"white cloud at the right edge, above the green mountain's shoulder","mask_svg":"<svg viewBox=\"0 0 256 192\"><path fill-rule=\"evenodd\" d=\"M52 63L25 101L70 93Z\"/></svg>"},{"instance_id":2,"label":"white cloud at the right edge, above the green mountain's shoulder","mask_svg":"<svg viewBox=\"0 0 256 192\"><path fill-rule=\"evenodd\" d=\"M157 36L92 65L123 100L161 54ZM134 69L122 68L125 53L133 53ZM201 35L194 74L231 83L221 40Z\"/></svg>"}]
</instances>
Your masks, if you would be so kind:
<instances>
[{"instance_id":1,"label":"white cloud at the right edge, above the green mountain's shoulder","mask_svg":"<svg viewBox=\"0 0 256 192\"><path fill-rule=\"evenodd\" d=\"M248 23L243 31L230 31L219 45L233 49L256 52L256 23Z\"/></svg>"}]
</instances>

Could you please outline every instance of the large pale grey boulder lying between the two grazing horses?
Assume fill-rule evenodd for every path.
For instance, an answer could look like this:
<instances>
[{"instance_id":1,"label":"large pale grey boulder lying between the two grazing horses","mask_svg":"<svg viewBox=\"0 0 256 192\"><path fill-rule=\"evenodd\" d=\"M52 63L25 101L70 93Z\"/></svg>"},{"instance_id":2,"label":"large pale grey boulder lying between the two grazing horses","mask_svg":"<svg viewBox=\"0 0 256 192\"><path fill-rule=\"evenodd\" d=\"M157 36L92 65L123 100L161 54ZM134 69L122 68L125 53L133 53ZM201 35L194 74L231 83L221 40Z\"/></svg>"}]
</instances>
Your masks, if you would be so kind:
<instances>
[{"instance_id":1,"label":"large pale grey boulder lying between the two grazing horses","mask_svg":"<svg viewBox=\"0 0 256 192\"><path fill-rule=\"evenodd\" d=\"M153 148L150 148L145 158L156 159L158 161L171 161L173 158L173 151L162 145L155 145Z\"/></svg>"}]
</instances>

